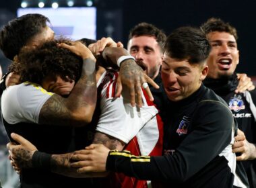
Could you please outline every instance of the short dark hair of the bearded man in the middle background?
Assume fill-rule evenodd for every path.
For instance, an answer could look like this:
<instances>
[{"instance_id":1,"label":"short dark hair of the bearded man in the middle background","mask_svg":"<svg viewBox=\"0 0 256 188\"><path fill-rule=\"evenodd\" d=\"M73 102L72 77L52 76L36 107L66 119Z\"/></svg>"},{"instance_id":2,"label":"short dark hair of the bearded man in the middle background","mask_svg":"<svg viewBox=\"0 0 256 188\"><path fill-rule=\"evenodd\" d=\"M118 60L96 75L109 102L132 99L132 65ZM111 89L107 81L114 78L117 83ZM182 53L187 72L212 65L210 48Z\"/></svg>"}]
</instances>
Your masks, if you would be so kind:
<instances>
[{"instance_id":1,"label":"short dark hair of the bearded man in the middle background","mask_svg":"<svg viewBox=\"0 0 256 188\"><path fill-rule=\"evenodd\" d=\"M166 40L166 35L162 30L146 22L139 23L130 30L129 40L137 36L153 36L154 38L156 38L156 42L158 42L161 50Z\"/></svg>"}]
</instances>

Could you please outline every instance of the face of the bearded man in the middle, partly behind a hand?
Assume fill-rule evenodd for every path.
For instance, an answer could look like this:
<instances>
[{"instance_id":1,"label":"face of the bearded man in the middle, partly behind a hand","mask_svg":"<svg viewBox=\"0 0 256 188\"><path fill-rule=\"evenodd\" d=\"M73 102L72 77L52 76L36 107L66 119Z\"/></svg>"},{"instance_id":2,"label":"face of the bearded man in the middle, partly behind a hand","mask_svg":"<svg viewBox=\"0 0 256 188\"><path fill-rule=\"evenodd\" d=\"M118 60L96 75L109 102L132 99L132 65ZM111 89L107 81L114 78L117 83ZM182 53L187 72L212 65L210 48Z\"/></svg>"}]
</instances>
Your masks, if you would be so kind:
<instances>
[{"instance_id":1,"label":"face of the bearded man in the middle, partly behind a hand","mask_svg":"<svg viewBox=\"0 0 256 188\"><path fill-rule=\"evenodd\" d=\"M129 40L128 50L145 73L155 79L162 64L162 52L153 36L138 36Z\"/></svg>"}]
</instances>

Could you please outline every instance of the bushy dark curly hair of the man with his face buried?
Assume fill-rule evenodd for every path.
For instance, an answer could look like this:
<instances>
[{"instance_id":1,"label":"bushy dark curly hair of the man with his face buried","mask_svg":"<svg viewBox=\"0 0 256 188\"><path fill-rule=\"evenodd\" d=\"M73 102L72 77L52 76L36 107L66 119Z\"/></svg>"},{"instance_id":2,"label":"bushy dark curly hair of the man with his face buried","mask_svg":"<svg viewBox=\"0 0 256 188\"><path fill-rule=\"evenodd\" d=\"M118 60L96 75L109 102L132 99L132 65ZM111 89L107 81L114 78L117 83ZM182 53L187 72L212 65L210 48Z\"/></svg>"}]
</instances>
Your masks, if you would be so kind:
<instances>
[{"instance_id":1,"label":"bushy dark curly hair of the man with his face buried","mask_svg":"<svg viewBox=\"0 0 256 188\"><path fill-rule=\"evenodd\" d=\"M81 75L83 60L73 52L59 48L57 43L61 42L69 44L71 40L60 38L44 42L32 50L22 48L9 66L9 71L20 74L22 82L30 81L39 85L49 75L59 75L65 81L77 81Z\"/></svg>"}]
</instances>

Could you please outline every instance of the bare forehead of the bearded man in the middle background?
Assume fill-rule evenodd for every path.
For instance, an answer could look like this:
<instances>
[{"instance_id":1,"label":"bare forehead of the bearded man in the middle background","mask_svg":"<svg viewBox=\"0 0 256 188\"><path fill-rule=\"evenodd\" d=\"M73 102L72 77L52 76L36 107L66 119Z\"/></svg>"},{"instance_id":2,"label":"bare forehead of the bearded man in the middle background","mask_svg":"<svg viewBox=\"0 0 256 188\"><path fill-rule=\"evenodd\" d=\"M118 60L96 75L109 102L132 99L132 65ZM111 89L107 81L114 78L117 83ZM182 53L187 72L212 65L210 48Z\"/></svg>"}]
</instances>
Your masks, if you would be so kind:
<instances>
[{"instance_id":1,"label":"bare forehead of the bearded man in the middle background","mask_svg":"<svg viewBox=\"0 0 256 188\"><path fill-rule=\"evenodd\" d=\"M129 46L158 46L158 42L154 36L137 36L129 40Z\"/></svg>"}]
</instances>

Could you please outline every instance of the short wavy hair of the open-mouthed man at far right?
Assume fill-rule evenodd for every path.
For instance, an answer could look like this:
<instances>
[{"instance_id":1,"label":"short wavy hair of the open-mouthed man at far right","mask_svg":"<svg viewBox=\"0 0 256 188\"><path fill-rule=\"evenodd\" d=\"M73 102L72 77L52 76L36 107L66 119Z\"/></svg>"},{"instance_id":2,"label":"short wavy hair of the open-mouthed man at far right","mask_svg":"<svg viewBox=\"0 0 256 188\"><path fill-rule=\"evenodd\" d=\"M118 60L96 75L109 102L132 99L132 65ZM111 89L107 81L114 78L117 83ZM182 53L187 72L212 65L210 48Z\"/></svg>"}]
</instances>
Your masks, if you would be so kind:
<instances>
[{"instance_id":1,"label":"short wavy hair of the open-mouthed man at far right","mask_svg":"<svg viewBox=\"0 0 256 188\"><path fill-rule=\"evenodd\" d=\"M230 23L222 21L220 18L212 17L208 19L201 25L201 30L203 30L205 34L209 34L210 32L227 32L238 40L236 28L231 26Z\"/></svg>"}]
</instances>

